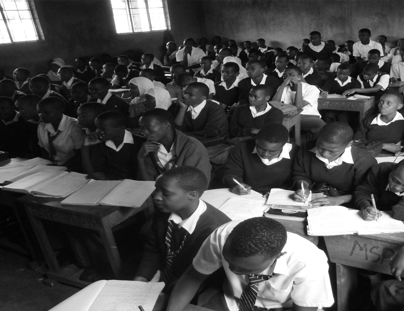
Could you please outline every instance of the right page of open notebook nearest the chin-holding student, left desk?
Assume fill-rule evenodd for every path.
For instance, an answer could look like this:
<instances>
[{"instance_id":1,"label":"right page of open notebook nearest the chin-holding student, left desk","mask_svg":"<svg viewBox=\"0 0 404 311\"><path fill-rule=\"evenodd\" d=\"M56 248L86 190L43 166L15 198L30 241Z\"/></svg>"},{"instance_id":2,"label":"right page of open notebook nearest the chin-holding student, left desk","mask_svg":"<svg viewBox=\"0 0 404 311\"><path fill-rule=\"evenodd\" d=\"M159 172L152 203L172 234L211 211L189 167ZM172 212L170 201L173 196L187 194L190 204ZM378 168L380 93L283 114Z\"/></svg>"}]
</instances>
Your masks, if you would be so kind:
<instances>
[{"instance_id":1,"label":"right page of open notebook nearest the chin-holding student, left desk","mask_svg":"<svg viewBox=\"0 0 404 311\"><path fill-rule=\"evenodd\" d=\"M124 179L112 189L98 203L104 205L117 205L140 207L156 189L155 182Z\"/></svg>"}]
</instances>

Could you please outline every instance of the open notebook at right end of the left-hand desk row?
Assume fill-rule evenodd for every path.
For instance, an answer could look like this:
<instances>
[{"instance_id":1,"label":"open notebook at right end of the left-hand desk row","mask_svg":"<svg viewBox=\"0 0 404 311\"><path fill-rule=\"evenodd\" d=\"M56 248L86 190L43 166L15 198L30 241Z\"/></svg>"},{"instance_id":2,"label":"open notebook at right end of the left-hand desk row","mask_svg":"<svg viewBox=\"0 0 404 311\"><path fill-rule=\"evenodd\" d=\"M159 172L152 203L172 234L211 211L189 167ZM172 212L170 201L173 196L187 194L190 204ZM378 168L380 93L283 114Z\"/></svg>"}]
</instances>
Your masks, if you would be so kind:
<instances>
[{"instance_id":1,"label":"open notebook at right end of the left-hand desk row","mask_svg":"<svg viewBox=\"0 0 404 311\"><path fill-rule=\"evenodd\" d=\"M115 205L141 207L154 191L155 182L139 180L90 180L61 201L72 205Z\"/></svg>"}]
</instances>

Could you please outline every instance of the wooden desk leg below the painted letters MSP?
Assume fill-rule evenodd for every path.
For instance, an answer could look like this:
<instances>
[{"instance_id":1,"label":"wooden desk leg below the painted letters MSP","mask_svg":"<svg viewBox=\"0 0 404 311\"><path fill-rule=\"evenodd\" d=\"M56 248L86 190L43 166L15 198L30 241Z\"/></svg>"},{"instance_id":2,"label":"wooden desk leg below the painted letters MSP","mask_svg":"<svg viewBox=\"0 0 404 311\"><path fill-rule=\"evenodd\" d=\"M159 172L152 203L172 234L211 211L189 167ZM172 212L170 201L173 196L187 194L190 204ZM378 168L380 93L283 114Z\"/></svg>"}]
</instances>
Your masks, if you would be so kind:
<instances>
[{"instance_id":1,"label":"wooden desk leg below the painted letters MSP","mask_svg":"<svg viewBox=\"0 0 404 311\"><path fill-rule=\"evenodd\" d=\"M352 292L358 288L358 269L336 264L337 267L337 308L338 311L349 311Z\"/></svg>"}]
</instances>

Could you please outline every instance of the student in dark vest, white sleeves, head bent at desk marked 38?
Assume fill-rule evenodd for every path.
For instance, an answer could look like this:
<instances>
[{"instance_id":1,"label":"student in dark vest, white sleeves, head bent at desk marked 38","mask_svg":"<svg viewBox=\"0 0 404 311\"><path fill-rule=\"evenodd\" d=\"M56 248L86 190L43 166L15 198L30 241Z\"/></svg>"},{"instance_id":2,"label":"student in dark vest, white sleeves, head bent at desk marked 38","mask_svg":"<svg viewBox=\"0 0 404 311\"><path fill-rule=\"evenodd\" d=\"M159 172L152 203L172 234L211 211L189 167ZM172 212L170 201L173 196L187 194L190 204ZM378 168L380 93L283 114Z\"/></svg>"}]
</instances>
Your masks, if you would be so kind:
<instances>
[{"instance_id":1,"label":"student in dark vest, white sleeves, head bent at desk marked 38","mask_svg":"<svg viewBox=\"0 0 404 311\"><path fill-rule=\"evenodd\" d=\"M358 76L361 88L349 89L342 93L343 96L353 93L360 93L368 96L375 96L375 103L386 93L389 87L389 75L379 72L377 64L369 63L363 69L363 73Z\"/></svg>"}]
</instances>

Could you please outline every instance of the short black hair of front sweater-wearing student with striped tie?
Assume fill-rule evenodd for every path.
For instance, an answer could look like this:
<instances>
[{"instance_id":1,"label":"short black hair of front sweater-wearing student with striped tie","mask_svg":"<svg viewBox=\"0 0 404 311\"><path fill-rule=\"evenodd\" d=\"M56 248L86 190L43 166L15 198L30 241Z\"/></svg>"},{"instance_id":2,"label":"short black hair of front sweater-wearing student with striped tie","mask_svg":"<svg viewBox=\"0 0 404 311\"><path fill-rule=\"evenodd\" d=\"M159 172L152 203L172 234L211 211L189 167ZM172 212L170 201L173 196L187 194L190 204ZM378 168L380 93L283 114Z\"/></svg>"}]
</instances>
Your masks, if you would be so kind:
<instances>
[{"instance_id":1,"label":"short black hair of front sweater-wearing student with striped tie","mask_svg":"<svg viewBox=\"0 0 404 311\"><path fill-rule=\"evenodd\" d=\"M164 178L175 179L184 191L196 191L199 196L208 188L208 180L200 169L193 166L173 167L161 174Z\"/></svg>"}]
</instances>

